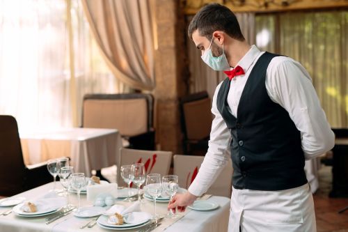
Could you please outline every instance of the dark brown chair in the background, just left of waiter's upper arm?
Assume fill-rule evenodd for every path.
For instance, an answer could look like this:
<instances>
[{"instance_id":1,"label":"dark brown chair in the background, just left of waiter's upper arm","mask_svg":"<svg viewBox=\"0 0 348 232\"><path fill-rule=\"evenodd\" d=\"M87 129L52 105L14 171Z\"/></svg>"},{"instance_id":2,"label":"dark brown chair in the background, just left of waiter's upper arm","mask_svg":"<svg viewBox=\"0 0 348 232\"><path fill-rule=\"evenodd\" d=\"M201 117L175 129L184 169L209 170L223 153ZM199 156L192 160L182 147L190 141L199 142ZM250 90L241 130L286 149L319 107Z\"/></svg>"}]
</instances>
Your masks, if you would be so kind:
<instances>
[{"instance_id":1,"label":"dark brown chair in the background, just left of waiter's upper arm","mask_svg":"<svg viewBox=\"0 0 348 232\"><path fill-rule=\"evenodd\" d=\"M193 93L180 99L184 153L205 155L212 128L211 100L207 91Z\"/></svg>"}]
</instances>

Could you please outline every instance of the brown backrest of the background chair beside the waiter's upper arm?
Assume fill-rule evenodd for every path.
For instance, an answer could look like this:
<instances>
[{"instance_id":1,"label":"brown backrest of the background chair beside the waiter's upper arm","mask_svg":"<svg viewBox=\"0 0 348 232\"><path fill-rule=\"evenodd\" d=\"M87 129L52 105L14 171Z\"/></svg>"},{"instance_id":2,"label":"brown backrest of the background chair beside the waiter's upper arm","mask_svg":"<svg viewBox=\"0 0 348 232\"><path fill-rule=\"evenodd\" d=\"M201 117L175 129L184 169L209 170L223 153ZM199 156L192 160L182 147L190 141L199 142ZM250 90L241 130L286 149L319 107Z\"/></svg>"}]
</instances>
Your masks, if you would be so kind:
<instances>
[{"instance_id":1,"label":"brown backrest of the background chair beside the waiter's upper arm","mask_svg":"<svg viewBox=\"0 0 348 232\"><path fill-rule=\"evenodd\" d=\"M212 127L211 100L206 91L187 95L180 100L186 139L209 137Z\"/></svg>"}]
</instances>

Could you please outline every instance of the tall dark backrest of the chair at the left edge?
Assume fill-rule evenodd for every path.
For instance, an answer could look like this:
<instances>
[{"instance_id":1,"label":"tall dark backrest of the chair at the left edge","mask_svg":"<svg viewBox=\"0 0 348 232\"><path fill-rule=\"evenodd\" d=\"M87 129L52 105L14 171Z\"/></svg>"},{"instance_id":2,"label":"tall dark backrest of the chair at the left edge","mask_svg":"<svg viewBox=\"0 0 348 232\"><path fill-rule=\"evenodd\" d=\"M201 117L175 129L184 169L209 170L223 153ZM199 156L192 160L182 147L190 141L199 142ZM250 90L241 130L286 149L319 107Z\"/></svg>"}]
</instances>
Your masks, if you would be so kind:
<instances>
[{"instance_id":1,"label":"tall dark backrest of the chair at the left edge","mask_svg":"<svg viewBox=\"0 0 348 232\"><path fill-rule=\"evenodd\" d=\"M0 195L24 190L25 169L17 121L0 115Z\"/></svg>"}]
</instances>

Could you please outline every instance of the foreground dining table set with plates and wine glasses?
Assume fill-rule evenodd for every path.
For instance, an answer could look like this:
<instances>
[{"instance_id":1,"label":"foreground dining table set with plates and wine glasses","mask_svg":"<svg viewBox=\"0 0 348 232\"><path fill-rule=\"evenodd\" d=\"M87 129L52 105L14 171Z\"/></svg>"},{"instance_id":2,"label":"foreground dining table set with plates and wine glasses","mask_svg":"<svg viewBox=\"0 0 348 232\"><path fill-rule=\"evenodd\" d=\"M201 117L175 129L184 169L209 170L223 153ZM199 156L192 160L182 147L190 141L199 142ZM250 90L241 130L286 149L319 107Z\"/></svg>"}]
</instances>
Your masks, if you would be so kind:
<instances>
[{"instance_id":1,"label":"foreground dining table set with plates and wine glasses","mask_svg":"<svg viewBox=\"0 0 348 232\"><path fill-rule=\"evenodd\" d=\"M38 199L40 196L47 194L52 190L53 183L48 183L40 187L36 187L33 190L17 194L15 197L23 197L26 201L33 201L33 199ZM203 199L202 199L203 200ZM74 206L77 205L77 194L70 193L69 201ZM190 231L190 232L208 232L208 231L227 231L228 229L228 217L230 212L230 199L225 196L210 196L204 199L208 203L214 203L217 208L212 210L193 210L187 208L185 212L177 212L178 217L167 218L164 217L161 221L161 225L158 226L153 232L168 231ZM93 206L93 203L87 201L86 195L81 194L82 207ZM127 201L122 201L122 199L116 199L116 204L129 206ZM143 199L140 204L142 212L149 212L153 214L154 204L152 201ZM157 214L165 216L167 214L168 202L157 202ZM12 206L13 207L13 206ZM10 209L10 207L0 207L1 212ZM59 212L54 212L58 214ZM54 215L54 214L53 214ZM96 224L92 228L86 227L85 229L80 229L81 226L86 224L91 220L89 217L76 217L74 212L57 219L51 224L46 224L45 218L52 215L45 215L39 217L22 217L18 216L14 212L8 215L0 215L0 231L40 231L40 232L73 232L73 231L113 231L113 229L104 229L99 224ZM134 232L140 231L142 227L136 229L126 229L125 231Z\"/></svg>"}]
</instances>

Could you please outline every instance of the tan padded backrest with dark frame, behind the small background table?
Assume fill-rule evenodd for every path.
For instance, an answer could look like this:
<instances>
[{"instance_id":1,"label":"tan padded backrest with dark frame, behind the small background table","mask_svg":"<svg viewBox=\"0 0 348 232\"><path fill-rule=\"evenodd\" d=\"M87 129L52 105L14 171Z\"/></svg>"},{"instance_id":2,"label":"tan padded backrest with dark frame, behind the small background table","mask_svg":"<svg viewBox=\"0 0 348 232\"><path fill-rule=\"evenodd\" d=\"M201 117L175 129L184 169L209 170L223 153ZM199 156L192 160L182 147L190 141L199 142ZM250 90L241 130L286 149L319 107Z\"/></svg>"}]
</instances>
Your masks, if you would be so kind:
<instances>
[{"instance_id":1,"label":"tan padded backrest with dark frame, behind the small background table","mask_svg":"<svg viewBox=\"0 0 348 232\"><path fill-rule=\"evenodd\" d=\"M145 93L84 96L82 127L111 128L132 137L151 130L153 97Z\"/></svg>"}]
</instances>

